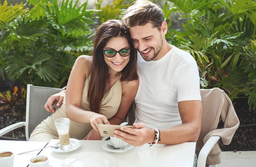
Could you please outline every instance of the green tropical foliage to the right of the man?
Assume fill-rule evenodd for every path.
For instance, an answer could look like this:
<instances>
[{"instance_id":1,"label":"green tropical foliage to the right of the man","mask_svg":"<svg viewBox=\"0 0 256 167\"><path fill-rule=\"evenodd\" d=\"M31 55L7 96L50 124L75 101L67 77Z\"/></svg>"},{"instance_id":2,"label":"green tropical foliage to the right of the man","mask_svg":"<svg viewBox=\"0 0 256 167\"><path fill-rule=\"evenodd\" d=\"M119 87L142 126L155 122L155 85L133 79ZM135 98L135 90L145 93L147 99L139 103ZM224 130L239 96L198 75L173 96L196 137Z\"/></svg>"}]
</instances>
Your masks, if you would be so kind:
<instances>
[{"instance_id":1,"label":"green tropical foliage to the right of the man","mask_svg":"<svg viewBox=\"0 0 256 167\"><path fill-rule=\"evenodd\" d=\"M232 100L248 98L255 110L256 1L168 1L174 6L163 8L166 20L172 21L168 13L172 10L186 22L181 32L169 28L166 38L196 59L201 87L221 88Z\"/></svg>"}]
</instances>

